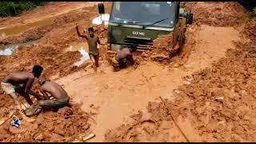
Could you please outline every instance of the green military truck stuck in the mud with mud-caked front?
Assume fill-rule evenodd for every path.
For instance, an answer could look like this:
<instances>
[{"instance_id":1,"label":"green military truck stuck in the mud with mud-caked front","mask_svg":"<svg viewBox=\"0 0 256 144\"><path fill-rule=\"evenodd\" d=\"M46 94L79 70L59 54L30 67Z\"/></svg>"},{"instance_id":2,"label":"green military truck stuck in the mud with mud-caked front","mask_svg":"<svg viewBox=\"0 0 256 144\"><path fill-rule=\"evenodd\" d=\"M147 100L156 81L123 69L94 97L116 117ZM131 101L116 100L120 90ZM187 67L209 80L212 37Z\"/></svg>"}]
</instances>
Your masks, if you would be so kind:
<instances>
[{"instance_id":1,"label":"green military truck stuck in the mud with mud-caked front","mask_svg":"<svg viewBox=\"0 0 256 144\"><path fill-rule=\"evenodd\" d=\"M102 3L98 11L105 13ZM113 2L107 40L111 50L130 44L137 50L153 50L154 39L172 33L170 46L182 46L186 25L192 21L193 14L180 9L179 2Z\"/></svg>"}]
</instances>

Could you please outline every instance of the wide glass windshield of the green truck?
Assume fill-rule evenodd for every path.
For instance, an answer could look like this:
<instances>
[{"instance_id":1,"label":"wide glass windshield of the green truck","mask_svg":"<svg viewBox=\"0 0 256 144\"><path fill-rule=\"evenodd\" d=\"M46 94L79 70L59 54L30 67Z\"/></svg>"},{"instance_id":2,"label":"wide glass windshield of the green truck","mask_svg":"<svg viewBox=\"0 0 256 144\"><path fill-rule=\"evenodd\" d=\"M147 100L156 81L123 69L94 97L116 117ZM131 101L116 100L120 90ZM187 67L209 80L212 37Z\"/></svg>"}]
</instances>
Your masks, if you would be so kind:
<instances>
[{"instance_id":1,"label":"wide glass windshield of the green truck","mask_svg":"<svg viewBox=\"0 0 256 144\"><path fill-rule=\"evenodd\" d=\"M173 27L175 15L175 2L114 2L110 22Z\"/></svg>"}]
</instances>

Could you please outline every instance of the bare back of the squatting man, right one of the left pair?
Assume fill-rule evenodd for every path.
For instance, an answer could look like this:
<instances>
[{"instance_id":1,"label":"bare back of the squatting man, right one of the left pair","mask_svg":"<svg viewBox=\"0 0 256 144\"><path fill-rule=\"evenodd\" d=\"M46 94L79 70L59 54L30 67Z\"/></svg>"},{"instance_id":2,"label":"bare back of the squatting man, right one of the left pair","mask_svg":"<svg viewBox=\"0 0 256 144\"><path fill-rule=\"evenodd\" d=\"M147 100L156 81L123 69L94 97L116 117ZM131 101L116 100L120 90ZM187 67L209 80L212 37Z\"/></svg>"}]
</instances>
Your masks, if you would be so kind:
<instances>
[{"instance_id":1,"label":"bare back of the squatting man, right one of the left pair","mask_svg":"<svg viewBox=\"0 0 256 144\"><path fill-rule=\"evenodd\" d=\"M49 93L52 97L56 99L68 98L66 91L59 86L56 82L46 81L41 87L40 91L46 97L46 93Z\"/></svg>"}]
</instances>

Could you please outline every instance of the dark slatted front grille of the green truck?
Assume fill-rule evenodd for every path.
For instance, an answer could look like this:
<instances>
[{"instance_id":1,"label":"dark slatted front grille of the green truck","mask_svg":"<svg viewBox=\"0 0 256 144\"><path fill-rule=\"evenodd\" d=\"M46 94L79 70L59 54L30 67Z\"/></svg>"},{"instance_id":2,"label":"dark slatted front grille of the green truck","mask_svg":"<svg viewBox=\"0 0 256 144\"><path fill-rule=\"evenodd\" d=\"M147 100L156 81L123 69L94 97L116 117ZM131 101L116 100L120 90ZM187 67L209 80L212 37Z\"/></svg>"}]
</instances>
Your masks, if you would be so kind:
<instances>
[{"instance_id":1,"label":"dark slatted front grille of the green truck","mask_svg":"<svg viewBox=\"0 0 256 144\"><path fill-rule=\"evenodd\" d=\"M127 36L125 39L126 46L136 44L139 51L153 50L153 41L151 38L138 38Z\"/></svg>"}]
</instances>

